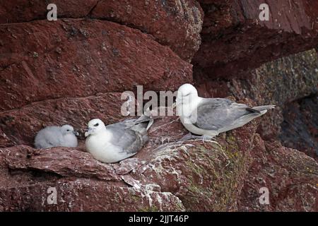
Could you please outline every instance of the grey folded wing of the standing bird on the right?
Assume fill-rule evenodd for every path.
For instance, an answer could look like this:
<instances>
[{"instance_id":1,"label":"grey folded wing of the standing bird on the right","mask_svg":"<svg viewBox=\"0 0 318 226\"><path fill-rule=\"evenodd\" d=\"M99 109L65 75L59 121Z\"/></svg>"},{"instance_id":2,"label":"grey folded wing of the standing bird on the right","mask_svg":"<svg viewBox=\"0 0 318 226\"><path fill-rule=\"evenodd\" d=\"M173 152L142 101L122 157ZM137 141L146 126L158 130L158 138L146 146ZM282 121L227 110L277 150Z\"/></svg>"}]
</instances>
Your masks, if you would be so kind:
<instances>
[{"instance_id":1,"label":"grey folded wing of the standing bird on the right","mask_svg":"<svg viewBox=\"0 0 318 226\"><path fill-rule=\"evenodd\" d=\"M247 105L223 98L207 98L193 112L196 114L194 125L201 129L218 131L250 113Z\"/></svg>"}]
</instances>

